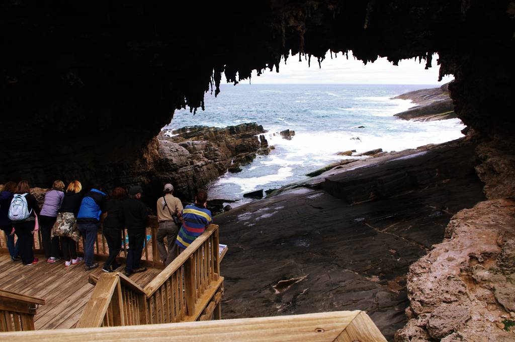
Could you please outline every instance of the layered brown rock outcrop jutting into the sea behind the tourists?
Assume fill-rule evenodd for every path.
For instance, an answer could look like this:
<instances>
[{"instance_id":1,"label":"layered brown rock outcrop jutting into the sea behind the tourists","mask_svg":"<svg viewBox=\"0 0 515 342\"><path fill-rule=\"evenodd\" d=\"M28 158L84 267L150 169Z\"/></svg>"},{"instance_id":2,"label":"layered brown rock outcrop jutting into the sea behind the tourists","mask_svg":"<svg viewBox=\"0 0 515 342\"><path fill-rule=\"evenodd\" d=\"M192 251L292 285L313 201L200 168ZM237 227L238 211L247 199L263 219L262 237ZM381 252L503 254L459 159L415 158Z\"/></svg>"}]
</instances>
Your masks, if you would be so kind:
<instances>
[{"instance_id":1,"label":"layered brown rock outcrop jutting into the sea behind the tourists","mask_svg":"<svg viewBox=\"0 0 515 342\"><path fill-rule=\"evenodd\" d=\"M171 183L176 196L193 199L198 187L225 174L229 167L247 164L258 153L268 154L264 132L256 123L162 131L143 157L118 175L118 182L126 187L142 185L152 200L162 196L164 183Z\"/></svg>"}]
</instances>

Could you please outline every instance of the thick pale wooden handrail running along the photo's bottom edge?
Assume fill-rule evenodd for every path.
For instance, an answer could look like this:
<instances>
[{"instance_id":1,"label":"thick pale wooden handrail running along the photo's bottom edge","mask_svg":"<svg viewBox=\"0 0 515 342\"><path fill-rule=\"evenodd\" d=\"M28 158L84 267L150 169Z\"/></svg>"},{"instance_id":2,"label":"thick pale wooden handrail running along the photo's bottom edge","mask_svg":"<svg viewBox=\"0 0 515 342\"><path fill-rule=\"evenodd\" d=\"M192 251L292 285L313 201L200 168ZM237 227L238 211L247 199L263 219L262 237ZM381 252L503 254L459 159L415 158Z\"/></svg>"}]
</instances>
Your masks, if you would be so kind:
<instances>
[{"instance_id":1,"label":"thick pale wooden handrail running along the photo's bottom edge","mask_svg":"<svg viewBox=\"0 0 515 342\"><path fill-rule=\"evenodd\" d=\"M226 319L141 325L133 327L39 330L0 334L0 340L25 342L56 341L317 341L386 342L364 311L336 311L307 315Z\"/></svg>"}]
</instances>

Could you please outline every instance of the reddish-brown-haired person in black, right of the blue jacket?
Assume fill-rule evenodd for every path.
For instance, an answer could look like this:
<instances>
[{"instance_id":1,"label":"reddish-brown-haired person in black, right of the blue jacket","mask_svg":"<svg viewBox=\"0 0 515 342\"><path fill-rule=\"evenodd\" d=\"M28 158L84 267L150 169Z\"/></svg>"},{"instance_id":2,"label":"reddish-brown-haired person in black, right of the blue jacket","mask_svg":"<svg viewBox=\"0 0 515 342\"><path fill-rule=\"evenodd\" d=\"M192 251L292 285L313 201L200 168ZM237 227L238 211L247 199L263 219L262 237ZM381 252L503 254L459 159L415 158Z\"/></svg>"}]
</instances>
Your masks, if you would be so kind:
<instances>
[{"instance_id":1,"label":"reddish-brown-haired person in black, right of the blue jacket","mask_svg":"<svg viewBox=\"0 0 515 342\"><path fill-rule=\"evenodd\" d=\"M104 219L104 236L109 246L109 257L102 267L104 272L112 272L122 266L116 262L116 257L122 249L122 230L124 229L123 201L127 192L123 187L115 187L111 198L107 200L107 216Z\"/></svg>"}]
</instances>

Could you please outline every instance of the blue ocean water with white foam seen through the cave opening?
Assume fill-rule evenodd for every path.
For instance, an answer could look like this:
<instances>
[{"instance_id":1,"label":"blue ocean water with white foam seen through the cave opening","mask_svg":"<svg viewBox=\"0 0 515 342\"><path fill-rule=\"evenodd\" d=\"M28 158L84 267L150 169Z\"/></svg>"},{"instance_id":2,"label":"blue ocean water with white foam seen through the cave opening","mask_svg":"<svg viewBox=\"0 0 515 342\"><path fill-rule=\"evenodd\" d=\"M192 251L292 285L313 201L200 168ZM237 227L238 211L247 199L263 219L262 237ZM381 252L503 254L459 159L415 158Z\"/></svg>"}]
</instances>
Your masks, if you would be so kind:
<instances>
[{"instance_id":1,"label":"blue ocean water with white foam seen through the cave opening","mask_svg":"<svg viewBox=\"0 0 515 342\"><path fill-rule=\"evenodd\" d=\"M226 127L256 122L267 130L268 156L258 156L237 174L227 173L209 184L210 198L249 201L243 194L277 189L306 179L305 174L347 158L339 151L375 148L400 151L463 136L459 119L412 122L393 114L414 106L391 97L435 85L399 84L222 84L217 98L205 95L205 111L179 110L164 129L205 125ZM364 128L358 128L364 126ZM296 132L292 140L278 134ZM274 135L275 133L275 135Z\"/></svg>"}]
</instances>

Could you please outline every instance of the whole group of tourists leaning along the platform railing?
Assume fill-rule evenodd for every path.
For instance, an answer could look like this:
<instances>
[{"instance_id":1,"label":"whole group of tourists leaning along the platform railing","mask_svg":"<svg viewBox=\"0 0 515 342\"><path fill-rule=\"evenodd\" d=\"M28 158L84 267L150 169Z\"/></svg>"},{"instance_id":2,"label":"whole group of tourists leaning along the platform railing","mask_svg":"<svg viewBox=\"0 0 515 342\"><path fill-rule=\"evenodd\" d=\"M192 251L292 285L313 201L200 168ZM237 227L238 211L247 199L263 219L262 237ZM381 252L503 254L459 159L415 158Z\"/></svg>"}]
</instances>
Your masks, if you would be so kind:
<instances>
[{"instance_id":1,"label":"whole group of tourists leaning along the platform railing","mask_svg":"<svg viewBox=\"0 0 515 342\"><path fill-rule=\"evenodd\" d=\"M197 190L195 202L185 208L173 195L173 185L165 184L163 193L157 200L157 248L161 261L168 266L204 232L212 218L206 208L208 194L205 190ZM46 192L40 209L36 197L30 194L27 181L7 182L0 192L0 228L7 236L11 260L21 260L24 265L38 262L32 244L33 234L41 229L46 262L55 263L63 258L65 267L84 262L85 270L97 268L94 245L102 226L109 248L102 270L113 272L122 266L116 257L125 245L122 231L126 229L128 252L124 273L130 276L145 271L141 257L147 240L148 208L141 201L142 194L142 187L138 185L131 186L128 193L123 187L115 187L110 196L101 187L83 193L78 180L70 182L66 190L64 183L56 180L52 189ZM83 259L77 255L77 242L81 237Z\"/></svg>"}]
</instances>

